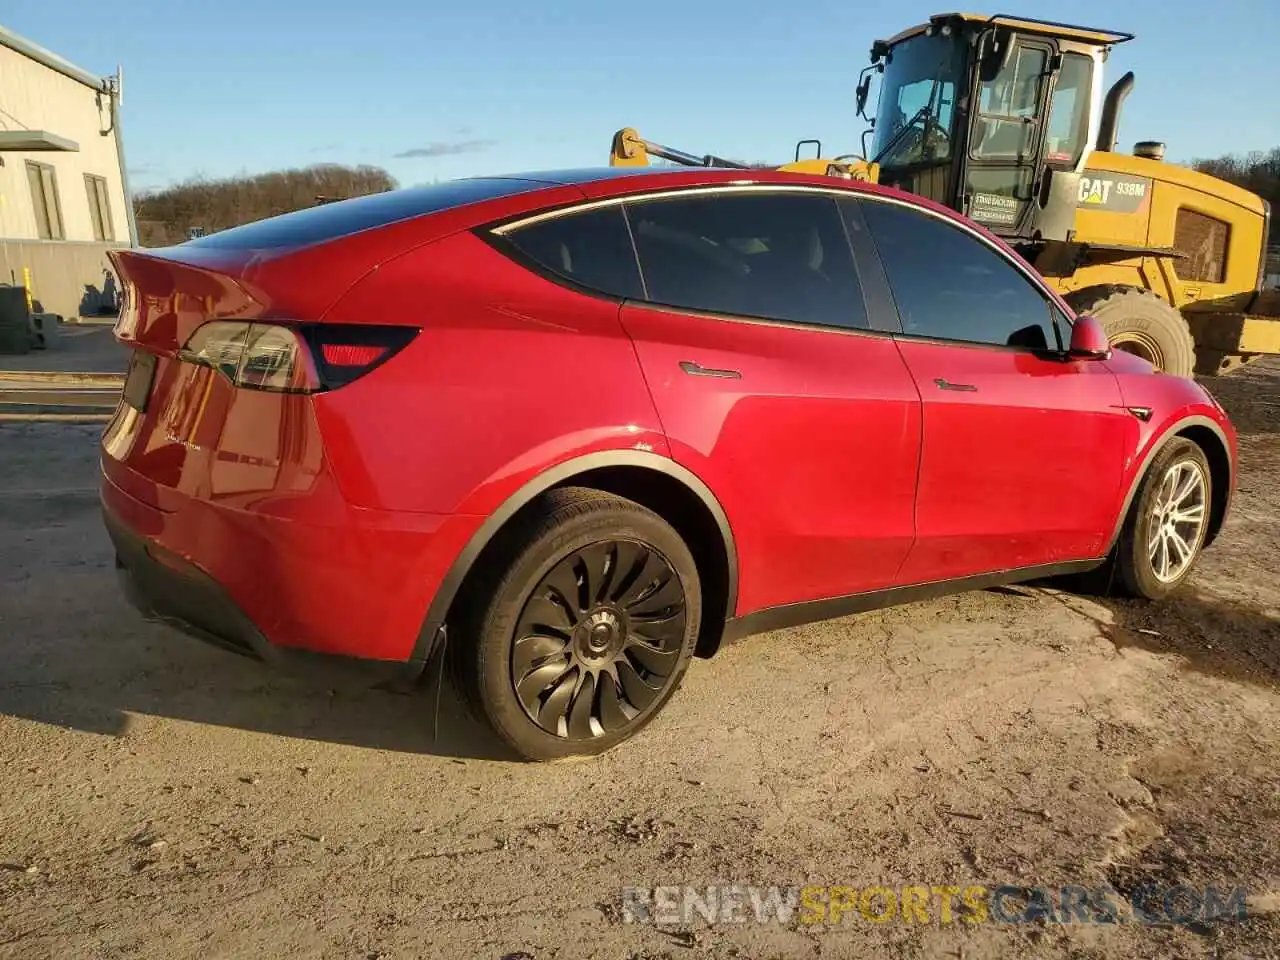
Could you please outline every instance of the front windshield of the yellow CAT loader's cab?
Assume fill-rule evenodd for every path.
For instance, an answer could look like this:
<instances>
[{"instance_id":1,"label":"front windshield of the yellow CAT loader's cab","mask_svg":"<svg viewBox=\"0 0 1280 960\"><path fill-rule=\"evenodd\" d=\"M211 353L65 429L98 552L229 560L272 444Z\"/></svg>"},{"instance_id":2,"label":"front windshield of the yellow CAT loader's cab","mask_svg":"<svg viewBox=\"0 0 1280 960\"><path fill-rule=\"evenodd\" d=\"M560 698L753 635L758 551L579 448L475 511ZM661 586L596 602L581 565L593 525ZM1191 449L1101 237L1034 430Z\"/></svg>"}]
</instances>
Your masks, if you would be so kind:
<instances>
[{"instance_id":1,"label":"front windshield of the yellow CAT loader's cab","mask_svg":"<svg viewBox=\"0 0 1280 960\"><path fill-rule=\"evenodd\" d=\"M884 166L945 161L963 49L941 35L893 47L881 78L873 155Z\"/></svg>"}]
</instances>

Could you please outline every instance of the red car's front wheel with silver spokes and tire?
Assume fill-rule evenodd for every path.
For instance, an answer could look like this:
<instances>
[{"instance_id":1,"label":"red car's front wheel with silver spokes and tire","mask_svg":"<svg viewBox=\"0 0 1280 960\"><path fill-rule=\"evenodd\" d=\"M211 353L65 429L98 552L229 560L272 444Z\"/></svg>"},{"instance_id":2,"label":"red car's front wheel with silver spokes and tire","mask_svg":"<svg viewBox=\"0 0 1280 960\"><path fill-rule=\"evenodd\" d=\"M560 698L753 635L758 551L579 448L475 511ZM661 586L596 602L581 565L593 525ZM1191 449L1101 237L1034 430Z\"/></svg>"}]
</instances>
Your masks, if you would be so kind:
<instances>
[{"instance_id":1,"label":"red car's front wheel with silver spokes and tire","mask_svg":"<svg viewBox=\"0 0 1280 960\"><path fill-rule=\"evenodd\" d=\"M1192 440L1176 438L1156 454L1116 547L1126 593L1158 600L1187 580L1204 545L1212 492L1208 460Z\"/></svg>"}]
</instances>

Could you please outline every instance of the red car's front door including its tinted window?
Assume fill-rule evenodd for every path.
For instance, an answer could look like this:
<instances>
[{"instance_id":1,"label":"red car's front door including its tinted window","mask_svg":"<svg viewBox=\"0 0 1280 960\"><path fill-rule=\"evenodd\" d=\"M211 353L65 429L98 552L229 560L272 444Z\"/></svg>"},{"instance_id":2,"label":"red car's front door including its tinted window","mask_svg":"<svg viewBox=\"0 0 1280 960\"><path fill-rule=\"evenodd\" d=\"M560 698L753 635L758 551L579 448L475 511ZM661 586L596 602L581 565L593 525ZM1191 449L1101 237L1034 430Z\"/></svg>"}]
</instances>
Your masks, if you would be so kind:
<instances>
[{"instance_id":1,"label":"red car's front door including its tinted window","mask_svg":"<svg viewBox=\"0 0 1280 960\"><path fill-rule=\"evenodd\" d=\"M1068 317L1030 268L978 230L896 198L856 206L923 403L902 581L1102 554L1137 425L1115 376L1066 358Z\"/></svg>"}]
</instances>

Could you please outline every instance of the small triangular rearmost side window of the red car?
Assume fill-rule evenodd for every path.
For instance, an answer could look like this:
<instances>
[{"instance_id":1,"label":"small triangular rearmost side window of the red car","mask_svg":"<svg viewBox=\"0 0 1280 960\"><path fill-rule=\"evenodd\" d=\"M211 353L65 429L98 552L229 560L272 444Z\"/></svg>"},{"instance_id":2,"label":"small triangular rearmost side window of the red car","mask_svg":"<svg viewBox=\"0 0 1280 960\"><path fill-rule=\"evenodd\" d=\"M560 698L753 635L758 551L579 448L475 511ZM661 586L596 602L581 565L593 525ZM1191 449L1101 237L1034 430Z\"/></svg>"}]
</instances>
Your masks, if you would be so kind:
<instances>
[{"instance_id":1,"label":"small triangular rearmost side window of the red car","mask_svg":"<svg viewBox=\"0 0 1280 960\"><path fill-rule=\"evenodd\" d=\"M566 280L611 297L644 297L626 216L618 205L532 223L512 230L506 239L539 268Z\"/></svg>"}]
</instances>

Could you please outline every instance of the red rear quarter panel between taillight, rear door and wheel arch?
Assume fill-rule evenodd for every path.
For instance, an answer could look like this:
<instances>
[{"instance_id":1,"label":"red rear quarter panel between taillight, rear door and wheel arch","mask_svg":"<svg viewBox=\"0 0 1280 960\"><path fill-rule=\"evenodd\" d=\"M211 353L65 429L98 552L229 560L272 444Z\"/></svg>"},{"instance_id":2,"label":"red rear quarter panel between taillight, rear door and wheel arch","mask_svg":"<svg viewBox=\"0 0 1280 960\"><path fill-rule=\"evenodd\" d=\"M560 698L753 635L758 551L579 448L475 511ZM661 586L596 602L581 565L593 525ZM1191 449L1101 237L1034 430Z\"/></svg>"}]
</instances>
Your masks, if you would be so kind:
<instances>
[{"instance_id":1,"label":"red rear quarter panel between taillight, rear door and wheel arch","mask_svg":"<svg viewBox=\"0 0 1280 960\"><path fill-rule=\"evenodd\" d=\"M470 232L384 264L324 319L421 328L389 362L316 398L334 475L357 506L485 516L573 457L668 454L618 305Z\"/></svg>"}]
</instances>

